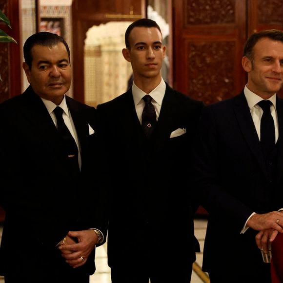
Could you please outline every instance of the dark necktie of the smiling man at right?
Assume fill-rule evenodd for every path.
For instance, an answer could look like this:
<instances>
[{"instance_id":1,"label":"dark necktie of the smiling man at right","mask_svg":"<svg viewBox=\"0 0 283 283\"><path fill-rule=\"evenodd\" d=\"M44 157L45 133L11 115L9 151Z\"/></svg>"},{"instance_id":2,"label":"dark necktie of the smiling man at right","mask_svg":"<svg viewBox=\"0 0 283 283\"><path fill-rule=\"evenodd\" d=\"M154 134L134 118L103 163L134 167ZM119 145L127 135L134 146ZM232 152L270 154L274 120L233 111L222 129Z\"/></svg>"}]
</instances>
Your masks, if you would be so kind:
<instances>
[{"instance_id":1,"label":"dark necktie of the smiling man at right","mask_svg":"<svg viewBox=\"0 0 283 283\"><path fill-rule=\"evenodd\" d=\"M269 100L258 102L258 105L263 109L263 116L261 119L261 145L266 160L269 159L270 153L275 147L274 121L270 113L271 104L272 102Z\"/></svg>"}]
</instances>

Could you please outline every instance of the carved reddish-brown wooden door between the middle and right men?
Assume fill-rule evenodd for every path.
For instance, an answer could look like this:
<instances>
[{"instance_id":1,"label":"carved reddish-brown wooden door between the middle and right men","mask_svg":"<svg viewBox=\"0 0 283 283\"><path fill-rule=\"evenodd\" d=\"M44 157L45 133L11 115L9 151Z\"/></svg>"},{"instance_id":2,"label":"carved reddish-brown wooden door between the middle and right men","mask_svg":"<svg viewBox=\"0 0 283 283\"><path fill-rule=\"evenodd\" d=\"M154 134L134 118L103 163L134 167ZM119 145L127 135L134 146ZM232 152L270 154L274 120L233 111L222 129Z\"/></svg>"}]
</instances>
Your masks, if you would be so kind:
<instances>
[{"instance_id":1,"label":"carved reddish-brown wooden door between the middle and right men","mask_svg":"<svg viewBox=\"0 0 283 283\"><path fill-rule=\"evenodd\" d=\"M175 0L174 87L206 104L240 92L245 19L245 0Z\"/></svg>"}]
</instances>

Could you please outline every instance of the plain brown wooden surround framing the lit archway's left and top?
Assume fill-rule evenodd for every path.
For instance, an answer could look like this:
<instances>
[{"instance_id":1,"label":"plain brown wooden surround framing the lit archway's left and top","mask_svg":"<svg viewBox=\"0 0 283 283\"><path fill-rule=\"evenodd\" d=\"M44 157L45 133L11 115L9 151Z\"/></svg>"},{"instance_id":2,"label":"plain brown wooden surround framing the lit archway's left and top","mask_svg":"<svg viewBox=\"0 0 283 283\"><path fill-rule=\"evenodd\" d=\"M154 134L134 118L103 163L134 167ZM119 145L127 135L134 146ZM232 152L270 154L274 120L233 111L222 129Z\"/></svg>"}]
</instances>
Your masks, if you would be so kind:
<instances>
[{"instance_id":1,"label":"plain brown wooden surround framing the lit archway's left and top","mask_svg":"<svg viewBox=\"0 0 283 283\"><path fill-rule=\"evenodd\" d=\"M93 25L109 21L132 21L145 17L146 0L73 0L73 86L74 98L84 102L84 40Z\"/></svg>"}]
</instances>

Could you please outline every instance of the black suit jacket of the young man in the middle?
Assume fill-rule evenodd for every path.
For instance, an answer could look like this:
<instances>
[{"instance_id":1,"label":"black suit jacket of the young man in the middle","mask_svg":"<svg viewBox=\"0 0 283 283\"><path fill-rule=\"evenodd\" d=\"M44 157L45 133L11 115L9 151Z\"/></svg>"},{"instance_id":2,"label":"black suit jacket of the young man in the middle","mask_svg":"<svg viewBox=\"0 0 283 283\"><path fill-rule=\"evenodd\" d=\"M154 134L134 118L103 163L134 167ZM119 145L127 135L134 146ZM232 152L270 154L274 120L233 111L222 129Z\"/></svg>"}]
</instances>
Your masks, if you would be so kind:
<instances>
[{"instance_id":1,"label":"black suit jacket of the young man in the middle","mask_svg":"<svg viewBox=\"0 0 283 283\"><path fill-rule=\"evenodd\" d=\"M191 141L202 102L166 85L151 142L137 117L132 91L98 105L105 142L109 148L112 205L108 230L108 263L150 260L192 263L199 250L194 238L188 165ZM172 131L185 128L182 136ZM170 239L168 239L170 235ZM182 248L168 246L180 245ZM121 248L123 253L121 254ZM175 256L174 256L175 255ZM128 262L129 263L129 262Z\"/></svg>"}]
</instances>

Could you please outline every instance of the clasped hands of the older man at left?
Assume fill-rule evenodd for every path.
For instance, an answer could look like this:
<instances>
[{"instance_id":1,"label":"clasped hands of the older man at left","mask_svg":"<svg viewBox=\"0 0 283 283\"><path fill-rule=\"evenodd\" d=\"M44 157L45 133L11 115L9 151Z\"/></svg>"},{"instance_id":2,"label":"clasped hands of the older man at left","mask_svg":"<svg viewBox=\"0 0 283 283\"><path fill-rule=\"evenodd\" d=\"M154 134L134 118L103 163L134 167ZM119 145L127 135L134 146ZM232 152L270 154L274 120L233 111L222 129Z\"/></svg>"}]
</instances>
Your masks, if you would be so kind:
<instances>
[{"instance_id":1,"label":"clasped hands of the older man at left","mask_svg":"<svg viewBox=\"0 0 283 283\"><path fill-rule=\"evenodd\" d=\"M74 243L66 241L66 244L59 247L61 255L70 266L74 268L79 267L87 261L90 253L94 249L98 241L97 235L93 230L89 229L69 231L67 237L76 238L78 243L75 241Z\"/></svg>"}]
</instances>

